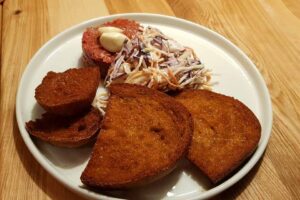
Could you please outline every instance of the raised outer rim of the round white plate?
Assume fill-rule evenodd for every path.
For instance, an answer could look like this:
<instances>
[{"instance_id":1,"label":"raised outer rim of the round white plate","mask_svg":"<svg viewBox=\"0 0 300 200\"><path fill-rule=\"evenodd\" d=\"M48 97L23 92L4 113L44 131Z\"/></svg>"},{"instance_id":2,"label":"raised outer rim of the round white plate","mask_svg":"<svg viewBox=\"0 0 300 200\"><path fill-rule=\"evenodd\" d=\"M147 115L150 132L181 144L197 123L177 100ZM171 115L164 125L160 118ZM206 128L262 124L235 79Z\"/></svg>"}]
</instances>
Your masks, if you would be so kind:
<instances>
[{"instance_id":1,"label":"raised outer rim of the round white plate","mask_svg":"<svg viewBox=\"0 0 300 200\"><path fill-rule=\"evenodd\" d=\"M47 160L43 157L42 153L39 151L39 149L37 148L37 146L34 144L34 142L32 141L30 135L28 134L28 132L26 131L23 121L22 121L22 117L21 117L21 88L23 85L23 82L25 80L25 75L28 74L28 71L30 68L30 66L32 66L34 64L34 61L36 59L38 59L38 57L40 56L40 54L48 48L49 45L51 45L52 42L54 42L55 40L63 37L64 35L68 34L69 32L72 32L78 28L80 28L81 26L86 26L88 24L93 24L99 20L112 20L115 18L119 18L119 17L124 17L124 18L137 18L137 17L156 17L156 18L164 18L165 20L172 20L172 21L179 21L181 23L184 24L188 24L197 28L200 28L204 31L206 31L209 34L212 34L214 37L221 39L223 42L227 43L227 45L229 45L231 48L233 48L233 50L235 51L235 53L238 53L238 55L240 57L242 57L249 66L251 66L251 70L253 70L253 72L255 73L255 78L257 78L257 80L259 81L259 85L261 87L261 89L263 90L262 93L264 94L264 101L267 105L267 108L265 109L267 112L266 116L268 118L267 123L268 125L266 125L266 130L263 132L264 133L264 138L261 136L260 139L260 143L257 147L257 149L255 150L255 152L252 154L252 156L250 157L250 159L244 164L244 166L239 169L234 175L232 175L229 179L227 179L226 181L224 181L223 183L221 183L220 185L217 185L215 187L213 187L212 189L209 189L203 193L200 194L200 196L193 196L191 198L189 198L188 196L186 196L189 199L206 199L206 198L210 198L212 196L215 196L223 191L225 191L226 189L228 189L229 187L231 187L232 185L234 185L235 183L237 183L239 180L241 180L253 167L254 165L258 162L258 160L262 157L268 141L270 139L271 136L271 130L272 130L272 124L273 124L273 112L272 112L272 103L271 103L271 98L270 98L270 94L268 91L268 88L266 86L266 83L261 75L261 73L259 72L259 70L257 69L257 67L254 65L254 63L250 60L250 58L241 50L239 49L235 44L233 44L231 41L229 41L228 39L226 39L224 36L222 36L221 34L194 22L182 19L182 18L177 18L177 17L173 17L173 16L167 16L167 15L162 15L162 14L153 14L153 13L122 13L122 14L115 14L115 15L107 15L107 16L103 16L103 17L96 17L90 20L86 20L83 21L79 24L76 24L72 27L69 27L67 29L65 29L64 31L60 32L59 34L57 34L56 36L52 37L50 40L48 40L46 43L44 43L42 45L42 47L34 54L34 56L30 59L29 63L27 64L27 66L25 67L23 73L22 73L22 78L20 79L19 85L18 85L18 90L17 90L17 95L16 95L16 118L17 118L17 123L18 123L18 128L20 131L20 134L22 136L23 141L25 142L25 145L27 146L28 150L30 151L30 153L33 155L33 157L35 158L35 160L52 176L54 177L56 180L58 180L60 183L62 183L65 187L69 188L71 191L81 195L81 196L85 196L85 197L89 197L89 198L104 198L104 199L120 199L120 198L116 198L116 197L109 197L106 196L104 194L101 193L94 193L91 192L89 190L83 189L83 188L79 188L78 186L76 187L74 184L70 184L66 179L62 178L62 176L60 176L60 174L51 166L51 164L49 164L47 162ZM177 198L175 198L177 199Z\"/></svg>"}]
</instances>

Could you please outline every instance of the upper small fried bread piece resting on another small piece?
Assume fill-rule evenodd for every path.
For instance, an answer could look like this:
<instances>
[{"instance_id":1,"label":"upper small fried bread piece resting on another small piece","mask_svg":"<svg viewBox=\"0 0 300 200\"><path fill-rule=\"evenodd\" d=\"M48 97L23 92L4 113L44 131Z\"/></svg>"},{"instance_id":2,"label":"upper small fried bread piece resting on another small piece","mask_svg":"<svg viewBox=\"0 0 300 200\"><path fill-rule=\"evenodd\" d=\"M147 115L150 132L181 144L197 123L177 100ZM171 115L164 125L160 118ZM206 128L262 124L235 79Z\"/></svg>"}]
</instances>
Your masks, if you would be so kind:
<instances>
[{"instance_id":1,"label":"upper small fried bread piece resting on another small piece","mask_svg":"<svg viewBox=\"0 0 300 200\"><path fill-rule=\"evenodd\" d=\"M37 102L48 112L70 116L88 109L100 82L96 67L48 72L35 89Z\"/></svg>"}]
</instances>

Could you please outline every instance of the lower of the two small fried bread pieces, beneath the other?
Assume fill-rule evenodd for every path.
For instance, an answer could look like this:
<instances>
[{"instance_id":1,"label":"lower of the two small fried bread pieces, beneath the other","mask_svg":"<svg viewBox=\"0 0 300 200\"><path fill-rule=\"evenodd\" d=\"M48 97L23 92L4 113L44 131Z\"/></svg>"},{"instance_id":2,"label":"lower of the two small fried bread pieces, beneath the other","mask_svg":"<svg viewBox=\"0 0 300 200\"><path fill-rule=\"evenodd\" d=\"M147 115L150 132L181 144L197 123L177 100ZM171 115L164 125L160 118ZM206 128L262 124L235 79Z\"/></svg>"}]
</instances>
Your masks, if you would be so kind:
<instances>
[{"instance_id":1,"label":"lower of the two small fried bread pieces, beneath the other","mask_svg":"<svg viewBox=\"0 0 300 200\"><path fill-rule=\"evenodd\" d=\"M92 108L76 117L63 117L51 113L26 123L30 135L61 147L79 147L96 139L101 123L100 112Z\"/></svg>"}]
</instances>

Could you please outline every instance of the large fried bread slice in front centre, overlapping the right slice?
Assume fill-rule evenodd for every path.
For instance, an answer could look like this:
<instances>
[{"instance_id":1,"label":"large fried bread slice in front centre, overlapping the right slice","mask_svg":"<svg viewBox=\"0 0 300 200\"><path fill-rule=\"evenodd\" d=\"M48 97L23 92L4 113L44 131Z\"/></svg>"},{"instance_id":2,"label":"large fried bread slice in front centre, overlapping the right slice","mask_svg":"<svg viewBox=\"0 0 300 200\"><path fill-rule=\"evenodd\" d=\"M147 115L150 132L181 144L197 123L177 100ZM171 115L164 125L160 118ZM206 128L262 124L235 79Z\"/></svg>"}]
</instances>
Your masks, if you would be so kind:
<instances>
[{"instance_id":1,"label":"large fried bread slice in front centre, overlapping the right slice","mask_svg":"<svg viewBox=\"0 0 300 200\"><path fill-rule=\"evenodd\" d=\"M109 90L101 131L81 181L122 189L168 174L190 144L190 113L174 98L144 86L112 84Z\"/></svg>"}]
</instances>

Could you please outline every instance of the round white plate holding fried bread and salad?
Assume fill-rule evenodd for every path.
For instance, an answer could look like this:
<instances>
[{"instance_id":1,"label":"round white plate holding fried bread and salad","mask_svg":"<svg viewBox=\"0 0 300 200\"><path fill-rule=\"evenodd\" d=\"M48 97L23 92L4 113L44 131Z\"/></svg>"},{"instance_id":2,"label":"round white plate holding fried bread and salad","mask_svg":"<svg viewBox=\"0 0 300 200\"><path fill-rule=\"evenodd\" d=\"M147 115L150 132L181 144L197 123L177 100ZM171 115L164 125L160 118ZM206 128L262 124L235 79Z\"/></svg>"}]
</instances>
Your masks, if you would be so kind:
<instances>
[{"instance_id":1,"label":"round white plate holding fried bread and salad","mask_svg":"<svg viewBox=\"0 0 300 200\"><path fill-rule=\"evenodd\" d=\"M81 37L86 27L114 18L129 18L162 30L166 35L192 47L207 68L216 74L214 91L233 96L245 103L262 125L262 137L252 157L233 176L217 186L190 163L183 161L169 176L149 186L130 192L100 194L81 187L80 175L87 164L91 147L57 148L33 141L24 124L35 119L41 108L34 99L34 89L50 70L64 71L80 65ZM267 87L250 59L221 35L192 22L154 14L121 14L92 19L74 26L48 41L28 64L17 94L16 115L21 135L36 160L58 181L71 190L93 199L139 197L140 199L200 199L216 195L239 181L257 163L268 143L272 127L272 108Z\"/></svg>"}]
</instances>

